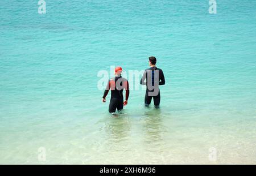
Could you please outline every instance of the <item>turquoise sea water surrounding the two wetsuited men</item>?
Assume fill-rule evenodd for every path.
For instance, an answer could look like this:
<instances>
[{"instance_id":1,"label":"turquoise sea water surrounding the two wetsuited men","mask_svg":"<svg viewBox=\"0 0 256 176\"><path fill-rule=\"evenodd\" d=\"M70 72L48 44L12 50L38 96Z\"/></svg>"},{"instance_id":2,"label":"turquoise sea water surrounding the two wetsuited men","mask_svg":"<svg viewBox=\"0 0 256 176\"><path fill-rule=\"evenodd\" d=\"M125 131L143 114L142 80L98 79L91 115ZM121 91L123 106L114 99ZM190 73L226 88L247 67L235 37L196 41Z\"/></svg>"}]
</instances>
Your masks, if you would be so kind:
<instances>
[{"instance_id":1,"label":"turquoise sea water surrounding the two wetsuited men","mask_svg":"<svg viewBox=\"0 0 256 176\"><path fill-rule=\"evenodd\" d=\"M256 1L208 2L1 0L0 164L256 164ZM98 71L151 55L160 109L113 118Z\"/></svg>"}]
</instances>

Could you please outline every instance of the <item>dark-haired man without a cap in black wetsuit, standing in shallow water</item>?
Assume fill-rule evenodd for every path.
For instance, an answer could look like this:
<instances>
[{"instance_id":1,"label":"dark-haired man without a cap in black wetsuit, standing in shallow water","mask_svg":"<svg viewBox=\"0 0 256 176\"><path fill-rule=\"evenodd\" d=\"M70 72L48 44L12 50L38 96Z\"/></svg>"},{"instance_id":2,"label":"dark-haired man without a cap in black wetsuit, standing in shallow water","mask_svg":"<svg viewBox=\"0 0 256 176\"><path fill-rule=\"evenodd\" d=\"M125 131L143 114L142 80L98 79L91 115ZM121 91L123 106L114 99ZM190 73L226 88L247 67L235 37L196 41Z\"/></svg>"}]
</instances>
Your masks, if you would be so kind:
<instances>
[{"instance_id":1,"label":"dark-haired man without a cap in black wetsuit, standing in shallow water","mask_svg":"<svg viewBox=\"0 0 256 176\"><path fill-rule=\"evenodd\" d=\"M144 71L144 74L141 79L142 85L147 85L147 91L145 95L145 105L148 106L151 104L152 98L154 98L155 107L158 108L160 105L160 89L159 85L166 84L164 79L163 71L160 68L157 68L156 58L149 57L150 68L147 68ZM146 83L144 82L146 79Z\"/></svg>"}]
</instances>

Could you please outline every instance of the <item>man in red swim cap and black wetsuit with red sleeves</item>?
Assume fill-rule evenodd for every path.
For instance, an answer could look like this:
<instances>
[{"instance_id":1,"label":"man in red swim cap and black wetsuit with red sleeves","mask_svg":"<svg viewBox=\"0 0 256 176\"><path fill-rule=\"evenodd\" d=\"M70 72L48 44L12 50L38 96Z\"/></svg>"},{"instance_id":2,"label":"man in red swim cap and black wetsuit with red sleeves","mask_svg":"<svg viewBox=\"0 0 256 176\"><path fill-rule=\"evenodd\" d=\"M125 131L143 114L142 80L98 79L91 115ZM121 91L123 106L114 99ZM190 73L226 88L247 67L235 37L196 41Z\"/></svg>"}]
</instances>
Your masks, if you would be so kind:
<instances>
[{"instance_id":1,"label":"man in red swim cap and black wetsuit with red sleeves","mask_svg":"<svg viewBox=\"0 0 256 176\"><path fill-rule=\"evenodd\" d=\"M123 105L128 104L129 98L129 83L125 78L122 78L122 68L117 67L115 68L115 77L109 80L108 85L106 86L104 95L103 95L103 102L106 102L106 96L111 89L111 99L109 103L109 112L114 113L117 109L122 110ZM126 91L125 101L123 101L123 89Z\"/></svg>"}]
</instances>

